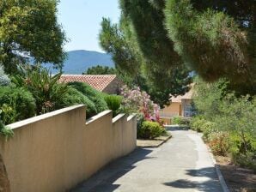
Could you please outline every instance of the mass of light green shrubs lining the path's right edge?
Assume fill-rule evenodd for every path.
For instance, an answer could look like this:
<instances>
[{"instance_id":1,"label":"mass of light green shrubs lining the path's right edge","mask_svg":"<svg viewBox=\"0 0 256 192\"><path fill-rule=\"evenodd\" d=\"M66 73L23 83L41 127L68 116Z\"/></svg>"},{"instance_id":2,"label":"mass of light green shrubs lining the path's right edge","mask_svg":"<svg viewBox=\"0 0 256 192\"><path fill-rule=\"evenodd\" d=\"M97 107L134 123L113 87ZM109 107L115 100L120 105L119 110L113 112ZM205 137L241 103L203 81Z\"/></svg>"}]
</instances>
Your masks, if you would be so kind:
<instances>
[{"instance_id":1,"label":"mass of light green shrubs lining the path's right edge","mask_svg":"<svg viewBox=\"0 0 256 192\"><path fill-rule=\"evenodd\" d=\"M200 117L193 118L192 129L203 131L204 139L211 143L211 147L216 152L222 154L229 152L236 164L255 169L255 96L253 98L249 95L229 93L227 82L222 80L197 83L194 103L200 112ZM216 133L229 136L224 136L225 140L222 140L221 135ZM229 145L226 142L229 142Z\"/></svg>"}]
</instances>

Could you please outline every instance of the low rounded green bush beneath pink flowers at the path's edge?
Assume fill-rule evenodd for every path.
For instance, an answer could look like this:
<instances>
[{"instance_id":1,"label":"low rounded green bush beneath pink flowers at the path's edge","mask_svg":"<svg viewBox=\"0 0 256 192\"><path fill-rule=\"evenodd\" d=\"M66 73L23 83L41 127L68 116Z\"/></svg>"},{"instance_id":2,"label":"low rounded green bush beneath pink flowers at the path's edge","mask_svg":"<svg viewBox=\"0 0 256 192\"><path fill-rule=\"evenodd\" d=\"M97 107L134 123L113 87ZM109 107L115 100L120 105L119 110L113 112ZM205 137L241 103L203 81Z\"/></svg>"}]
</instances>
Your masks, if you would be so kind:
<instances>
[{"instance_id":1,"label":"low rounded green bush beneath pink flowers at the path's edge","mask_svg":"<svg viewBox=\"0 0 256 192\"><path fill-rule=\"evenodd\" d=\"M154 139L155 137L166 134L166 130L156 122L145 121L140 129L137 129L138 138Z\"/></svg>"}]
</instances>

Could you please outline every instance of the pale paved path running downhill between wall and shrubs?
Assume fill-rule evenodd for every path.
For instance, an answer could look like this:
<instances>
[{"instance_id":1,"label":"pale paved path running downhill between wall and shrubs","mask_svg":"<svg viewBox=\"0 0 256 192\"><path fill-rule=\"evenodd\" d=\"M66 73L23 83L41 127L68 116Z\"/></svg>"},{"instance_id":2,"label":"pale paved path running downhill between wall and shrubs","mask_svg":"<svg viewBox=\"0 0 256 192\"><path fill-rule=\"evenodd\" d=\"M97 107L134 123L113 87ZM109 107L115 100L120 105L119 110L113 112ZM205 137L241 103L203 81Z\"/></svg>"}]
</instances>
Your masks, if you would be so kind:
<instances>
[{"instance_id":1,"label":"pale paved path running downhill between wall and shrubs","mask_svg":"<svg viewBox=\"0 0 256 192\"><path fill-rule=\"evenodd\" d=\"M73 192L221 192L210 154L200 136L172 129L158 148L137 148Z\"/></svg>"}]
</instances>

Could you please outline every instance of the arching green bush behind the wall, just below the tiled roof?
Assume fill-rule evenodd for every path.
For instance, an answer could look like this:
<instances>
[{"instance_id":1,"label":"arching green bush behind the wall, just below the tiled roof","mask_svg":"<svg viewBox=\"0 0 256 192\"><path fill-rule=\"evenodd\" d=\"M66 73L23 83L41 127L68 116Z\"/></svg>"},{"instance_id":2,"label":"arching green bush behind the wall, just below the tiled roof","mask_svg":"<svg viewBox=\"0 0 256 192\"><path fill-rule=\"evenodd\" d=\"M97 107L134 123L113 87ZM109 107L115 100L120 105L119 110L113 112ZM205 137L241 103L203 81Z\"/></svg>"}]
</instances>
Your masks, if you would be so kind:
<instances>
[{"instance_id":1,"label":"arching green bush behind the wall, just below the tiled roof","mask_svg":"<svg viewBox=\"0 0 256 192\"><path fill-rule=\"evenodd\" d=\"M107 103L103 97L103 94L95 90L93 87L90 87L88 84L83 82L70 82L68 85L71 87L75 87L76 90L78 90L83 95L88 97L88 99L93 101L96 107L97 113L100 113L101 111L105 111L108 109Z\"/></svg>"}]
</instances>

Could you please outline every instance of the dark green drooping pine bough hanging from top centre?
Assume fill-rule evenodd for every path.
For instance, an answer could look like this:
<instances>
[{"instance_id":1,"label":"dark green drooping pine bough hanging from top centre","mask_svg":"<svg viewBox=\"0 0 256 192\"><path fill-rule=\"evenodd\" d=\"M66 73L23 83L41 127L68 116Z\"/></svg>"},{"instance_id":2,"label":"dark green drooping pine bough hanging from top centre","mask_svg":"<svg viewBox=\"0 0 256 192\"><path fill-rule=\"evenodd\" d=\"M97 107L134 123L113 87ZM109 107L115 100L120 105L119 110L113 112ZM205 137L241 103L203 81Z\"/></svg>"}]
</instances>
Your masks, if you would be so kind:
<instances>
[{"instance_id":1,"label":"dark green drooping pine bough hanging from top centre","mask_svg":"<svg viewBox=\"0 0 256 192\"><path fill-rule=\"evenodd\" d=\"M164 0L120 0L124 17L131 22L137 45L143 57L151 62L149 65L172 69L171 66L175 67L182 61L163 25L164 4Z\"/></svg>"}]
</instances>

